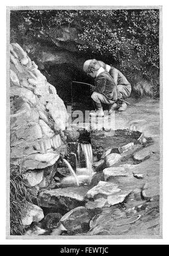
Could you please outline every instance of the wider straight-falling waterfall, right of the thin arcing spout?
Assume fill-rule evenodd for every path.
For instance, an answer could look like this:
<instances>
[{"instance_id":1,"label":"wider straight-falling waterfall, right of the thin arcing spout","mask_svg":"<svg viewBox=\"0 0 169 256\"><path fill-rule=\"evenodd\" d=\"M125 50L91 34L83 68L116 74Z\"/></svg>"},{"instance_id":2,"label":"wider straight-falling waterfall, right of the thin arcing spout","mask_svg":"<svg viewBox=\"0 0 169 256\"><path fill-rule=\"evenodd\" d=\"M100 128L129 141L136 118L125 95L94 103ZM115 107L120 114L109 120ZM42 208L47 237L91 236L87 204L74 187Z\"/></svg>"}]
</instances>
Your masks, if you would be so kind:
<instances>
[{"instance_id":1,"label":"wider straight-falling waterfall, right of the thin arcing spout","mask_svg":"<svg viewBox=\"0 0 169 256\"><path fill-rule=\"evenodd\" d=\"M86 159L86 167L88 176L92 177L92 161L93 161L93 153L91 144L81 143L81 148Z\"/></svg>"}]
</instances>

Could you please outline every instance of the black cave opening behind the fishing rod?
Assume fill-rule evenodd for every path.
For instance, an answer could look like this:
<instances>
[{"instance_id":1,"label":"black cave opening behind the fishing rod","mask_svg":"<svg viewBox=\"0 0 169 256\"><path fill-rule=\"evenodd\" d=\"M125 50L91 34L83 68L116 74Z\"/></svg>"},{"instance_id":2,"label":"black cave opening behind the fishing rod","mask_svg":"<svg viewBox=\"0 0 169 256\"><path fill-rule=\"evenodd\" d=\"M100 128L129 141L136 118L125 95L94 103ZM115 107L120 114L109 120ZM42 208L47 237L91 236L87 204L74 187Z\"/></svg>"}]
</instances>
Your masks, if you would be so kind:
<instances>
[{"instance_id":1,"label":"black cave opening behind the fishing rod","mask_svg":"<svg viewBox=\"0 0 169 256\"><path fill-rule=\"evenodd\" d=\"M62 63L60 65L46 65L42 71L47 81L55 86L57 94L64 101L65 105L86 106L92 108L91 88L85 84L72 83L83 82L94 84L82 69L78 69L73 63Z\"/></svg>"}]
</instances>

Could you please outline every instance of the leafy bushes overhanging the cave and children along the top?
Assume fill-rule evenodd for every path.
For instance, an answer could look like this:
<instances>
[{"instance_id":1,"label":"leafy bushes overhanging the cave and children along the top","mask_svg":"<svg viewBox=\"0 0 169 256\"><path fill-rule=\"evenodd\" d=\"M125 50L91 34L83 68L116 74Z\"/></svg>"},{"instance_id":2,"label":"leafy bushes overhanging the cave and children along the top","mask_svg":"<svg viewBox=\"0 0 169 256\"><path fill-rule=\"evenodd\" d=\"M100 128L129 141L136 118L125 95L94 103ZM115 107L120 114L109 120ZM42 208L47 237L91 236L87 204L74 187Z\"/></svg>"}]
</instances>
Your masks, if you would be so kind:
<instances>
[{"instance_id":1,"label":"leafy bushes overhanging the cave and children along the top","mask_svg":"<svg viewBox=\"0 0 169 256\"><path fill-rule=\"evenodd\" d=\"M159 10L11 12L13 41L55 42L55 32L63 26L77 29L79 52L118 67L131 81L135 75L140 75L156 83L159 76Z\"/></svg>"}]
</instances>

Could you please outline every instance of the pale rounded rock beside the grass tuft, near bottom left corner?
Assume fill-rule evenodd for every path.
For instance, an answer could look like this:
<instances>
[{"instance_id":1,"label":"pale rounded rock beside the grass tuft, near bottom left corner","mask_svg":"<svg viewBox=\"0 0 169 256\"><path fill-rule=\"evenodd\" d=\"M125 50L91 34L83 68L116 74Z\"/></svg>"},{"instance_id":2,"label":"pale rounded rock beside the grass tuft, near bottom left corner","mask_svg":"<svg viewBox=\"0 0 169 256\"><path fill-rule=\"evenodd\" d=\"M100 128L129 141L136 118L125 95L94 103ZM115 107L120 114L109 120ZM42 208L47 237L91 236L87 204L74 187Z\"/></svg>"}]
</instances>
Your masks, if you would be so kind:
<instances>
[{"instance_id":1,"label":"pale rounded rock beside the grass tuft, near bottom left corner","mask_svg":"<svg viewBox=\"0 0 169 256\"><path fill-rule=\"evenodd\" d=\"M44 218L42 209L35 204L29 204L28 210L23 212L22 215L21 221L24 227L28 227L33 222L39 222Z\"/></svg>"}]
</instances>

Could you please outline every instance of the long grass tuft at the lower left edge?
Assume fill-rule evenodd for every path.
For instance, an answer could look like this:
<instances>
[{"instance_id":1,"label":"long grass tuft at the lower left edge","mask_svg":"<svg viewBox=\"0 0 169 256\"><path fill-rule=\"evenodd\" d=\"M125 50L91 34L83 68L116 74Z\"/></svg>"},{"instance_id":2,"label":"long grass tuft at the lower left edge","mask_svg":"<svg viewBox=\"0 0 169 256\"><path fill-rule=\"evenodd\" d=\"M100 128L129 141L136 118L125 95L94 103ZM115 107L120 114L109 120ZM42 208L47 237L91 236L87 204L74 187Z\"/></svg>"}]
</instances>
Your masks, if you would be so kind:
<instances>
[{"instance_id":1,"label":"long grass tuft at the lower left edge","mask_svg":"<svg viewBox=\"0 0 169 256\"><path fill-rule=\"evenodd\" d=\"M35 193L20 174L18 169L11 169L10 174L10 228L11 235L23 235L21 217L24 211L28 209L29 203L32 203Z\"/></svg>"}]
</instances>

